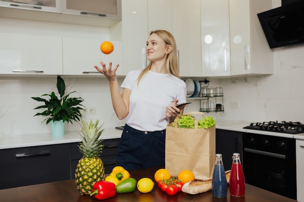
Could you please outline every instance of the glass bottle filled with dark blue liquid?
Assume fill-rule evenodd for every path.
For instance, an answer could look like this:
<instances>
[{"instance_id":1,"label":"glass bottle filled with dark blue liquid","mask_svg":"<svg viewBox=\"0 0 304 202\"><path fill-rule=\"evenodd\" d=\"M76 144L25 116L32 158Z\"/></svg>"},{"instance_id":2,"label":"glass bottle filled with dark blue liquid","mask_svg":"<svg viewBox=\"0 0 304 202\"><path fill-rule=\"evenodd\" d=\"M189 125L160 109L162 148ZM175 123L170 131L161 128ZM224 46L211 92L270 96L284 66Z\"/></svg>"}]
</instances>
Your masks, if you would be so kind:
<instances>
[{"instance_id":1,"label":"glass bottle filled with dark blue liquid","mask_svg":"<svg viewBox=\"0 0 304 202\"><path fill-rule=\"evenodd\" d=\"M222 155L216 154L216 161L214 165L212 177L212 194L216 198L227 197L227 179L225 169L222 161Z\"/></svg>"}]
</instances>

